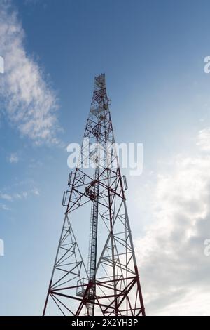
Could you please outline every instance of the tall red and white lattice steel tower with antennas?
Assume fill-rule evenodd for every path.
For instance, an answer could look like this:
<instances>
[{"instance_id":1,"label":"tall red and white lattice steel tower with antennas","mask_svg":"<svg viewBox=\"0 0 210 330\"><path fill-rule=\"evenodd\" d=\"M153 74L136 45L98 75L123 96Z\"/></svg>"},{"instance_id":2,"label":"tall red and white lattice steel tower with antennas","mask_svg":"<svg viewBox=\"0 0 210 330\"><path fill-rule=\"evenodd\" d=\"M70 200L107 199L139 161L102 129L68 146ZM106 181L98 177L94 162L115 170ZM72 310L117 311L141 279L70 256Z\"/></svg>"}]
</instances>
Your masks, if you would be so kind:
<instances>
[{"instance_id":1,"label":"tall red and white lattice steel tower with antennas","mask_svg":"<svg viewBox=\"0 0 210 330\"><path fill-rule=\"evenodd\" d=\"M110 103L101 74L94 79L78 166L63 196L64 224L43 315L145 315Z\"/></svg>"}]
</instances>

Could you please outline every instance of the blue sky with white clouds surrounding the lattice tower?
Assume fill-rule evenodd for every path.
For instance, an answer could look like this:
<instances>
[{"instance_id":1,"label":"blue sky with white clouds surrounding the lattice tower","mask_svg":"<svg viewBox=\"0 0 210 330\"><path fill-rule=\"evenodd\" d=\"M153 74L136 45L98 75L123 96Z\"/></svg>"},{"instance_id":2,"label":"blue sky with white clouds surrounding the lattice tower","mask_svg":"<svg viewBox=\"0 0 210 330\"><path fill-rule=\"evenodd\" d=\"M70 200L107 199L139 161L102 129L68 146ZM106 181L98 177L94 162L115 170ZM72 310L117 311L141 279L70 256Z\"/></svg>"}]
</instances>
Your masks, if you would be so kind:
<instances>
[{"instance_id":1,"label":"blue sky with white clouds surrounding the lattice tower","mask_svg":"<svg viewBox=\"0 0 210 330\"><path fill-rule=\"evenodd\" d=\"M102 72L117 142L144 143L141 177L124 173L146 308L195 314L190 295L209 304L209 259L202 253L208 237L201 234L208 235L209 216L209 1L1 0L0 6L6 63L0 77L1 315L42 312L63 220L65 147L81 141L94 75ZM46 124L37 119L39 111ZM181 219L188 247L177 234ZM167 228L160 237L153 234L159 226ZM160 241L163 250L160 244L153 251ZM176 244L195 253L178 253ZM179 282L162 292L160 269L174 274L170 251L179 260ZM200 260L197 276L193 258ZM199 313L207 310L200 303Z\"/></svg>"}]
</instances>

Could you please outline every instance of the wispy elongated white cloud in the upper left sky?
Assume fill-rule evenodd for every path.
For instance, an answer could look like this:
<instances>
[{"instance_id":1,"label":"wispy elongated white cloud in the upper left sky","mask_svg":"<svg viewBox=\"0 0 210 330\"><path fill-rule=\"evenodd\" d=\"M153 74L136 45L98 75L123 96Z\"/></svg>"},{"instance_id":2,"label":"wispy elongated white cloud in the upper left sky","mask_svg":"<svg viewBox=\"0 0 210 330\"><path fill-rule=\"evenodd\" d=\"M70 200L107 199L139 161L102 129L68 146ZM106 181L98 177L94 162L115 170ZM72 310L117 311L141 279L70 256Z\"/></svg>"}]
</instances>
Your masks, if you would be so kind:
<instances>
[{"instance_id":1,"label":"wispy elongated white cloud in the upper left sky","mask_svg":"<svg viewBox=\"0 0 210 330\"><path fill-rule=\"evenodd\" d=\"M0 3L0 49L5 59L0 95L5 113L23 136L35 143L57 142L57 98L24 46L25 32L9 0Z\"/></svg>"}]
</instances>

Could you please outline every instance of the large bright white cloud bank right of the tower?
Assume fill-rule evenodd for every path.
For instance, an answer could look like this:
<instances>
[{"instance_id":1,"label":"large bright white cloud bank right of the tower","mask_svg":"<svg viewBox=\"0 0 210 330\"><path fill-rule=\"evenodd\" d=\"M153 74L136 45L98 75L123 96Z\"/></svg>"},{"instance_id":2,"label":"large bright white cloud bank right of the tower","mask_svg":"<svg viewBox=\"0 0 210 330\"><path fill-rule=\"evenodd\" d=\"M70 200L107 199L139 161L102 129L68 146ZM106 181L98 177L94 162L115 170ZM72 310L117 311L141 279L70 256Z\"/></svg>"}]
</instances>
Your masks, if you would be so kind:
<instances>
[{"instance_id":1,"label":"large bright white cloud bank right of the tower","mask_svg":"<svg viewBox=\"0 0 210 330\"><path fill-rule=\"evenodd\" d=\"M210 257L204 256L204 240L210 238L208 132L198 134L197 155L174 157L153 187L154 220L135 242L148 314L209 315Z\"/></svg>"}]
</instances>

